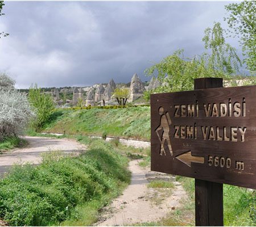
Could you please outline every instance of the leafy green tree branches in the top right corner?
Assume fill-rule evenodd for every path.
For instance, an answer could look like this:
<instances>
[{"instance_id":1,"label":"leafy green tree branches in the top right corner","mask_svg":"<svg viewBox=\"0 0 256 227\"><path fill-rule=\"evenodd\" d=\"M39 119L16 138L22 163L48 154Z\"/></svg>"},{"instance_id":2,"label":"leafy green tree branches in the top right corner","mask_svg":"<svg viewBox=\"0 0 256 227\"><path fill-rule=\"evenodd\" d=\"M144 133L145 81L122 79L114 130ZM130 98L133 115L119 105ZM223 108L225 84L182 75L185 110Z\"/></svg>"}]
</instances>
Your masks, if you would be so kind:
<instances>
[{"instance_id":1,"label":"leafy green tree branches in the top right corner","mask_svg":"<svg viewBox=\"0 0 256 227\"><path fill-rule=\"evenodd\" d=\"M256 2L242 1L225 6L230 13L224 18L228 22L234 36L240 38L243 55L247 56L243 63L251 72L256 71Z\"/></svg>"}]
</instances>

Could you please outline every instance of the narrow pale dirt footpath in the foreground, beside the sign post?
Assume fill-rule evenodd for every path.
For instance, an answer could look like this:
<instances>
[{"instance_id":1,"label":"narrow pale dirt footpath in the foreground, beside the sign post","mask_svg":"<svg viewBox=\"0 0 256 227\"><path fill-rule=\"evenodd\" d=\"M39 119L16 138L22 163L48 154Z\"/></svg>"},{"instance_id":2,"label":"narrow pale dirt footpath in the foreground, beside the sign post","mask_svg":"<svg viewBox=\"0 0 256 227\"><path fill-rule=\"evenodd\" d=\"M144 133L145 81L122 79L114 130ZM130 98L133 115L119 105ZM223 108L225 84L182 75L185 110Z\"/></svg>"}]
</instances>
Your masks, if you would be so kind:
<instances>
[{"instance_id":1,"label":"narrow pale dirt footpath in the foreground, beside the sign post","mask_svg":"<svg viewBox=\"0 0 256 227\"><path fill-rule=\"evenodd\" d=\"M187 195L183 187L173 176L152 172L140 167L138 163L138 160L130 162L132 176L129 187L111 205L104 208L100 221L95 226L124 226L156 221L175 211L180 205L179 201L185 199ZM175 188L147 188L148 181L154 179L173 180Z\"/></svg>"}]
</instances>

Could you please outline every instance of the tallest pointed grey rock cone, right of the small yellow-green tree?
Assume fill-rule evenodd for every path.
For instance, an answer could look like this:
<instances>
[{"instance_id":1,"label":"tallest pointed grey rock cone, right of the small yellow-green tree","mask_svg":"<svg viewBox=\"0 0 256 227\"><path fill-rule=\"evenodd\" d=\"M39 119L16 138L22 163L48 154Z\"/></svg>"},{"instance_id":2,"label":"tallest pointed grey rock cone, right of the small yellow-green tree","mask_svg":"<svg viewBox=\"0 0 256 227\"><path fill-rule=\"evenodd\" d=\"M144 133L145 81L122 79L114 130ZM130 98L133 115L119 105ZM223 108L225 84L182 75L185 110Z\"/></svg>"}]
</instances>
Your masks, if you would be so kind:
<instances>
[{"instance_id":1,"label":"tallest pointed grey rock cone, right of the small yellow-green tree","mask_svg":"<svg viewBox=\"0 0 256 227\"><path fill-rule=\"evenodd\" d=\"M145 88L142 85L141 79L139 79L138 75L135 73L133 78L131 78L129 102L133 102L135 99L143 96L144 91Z\"/></svg>"}]
</instances>

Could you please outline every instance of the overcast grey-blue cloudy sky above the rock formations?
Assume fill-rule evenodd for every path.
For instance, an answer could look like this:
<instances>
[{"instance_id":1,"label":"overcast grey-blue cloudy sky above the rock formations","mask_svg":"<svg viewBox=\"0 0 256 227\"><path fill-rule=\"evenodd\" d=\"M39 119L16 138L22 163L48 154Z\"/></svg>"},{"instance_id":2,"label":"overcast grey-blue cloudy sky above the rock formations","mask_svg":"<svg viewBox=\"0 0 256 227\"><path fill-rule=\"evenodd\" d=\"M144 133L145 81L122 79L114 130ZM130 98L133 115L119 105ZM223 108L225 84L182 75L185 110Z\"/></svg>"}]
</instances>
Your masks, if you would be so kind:
<instances>
[{"instance_id":1,"label":"overcast grey-blue cloudy sky above the rock formations","mask_svg":"<svg viewBox=\"0 0 256 227\"><path fill-rule=\"evenodd\" d=\"M5 2L0 72L17 88L129 82L177 49L201 54L204 30L220 22L227 1ZM227 40L233 47L237 40Z\"/></svg>"}]
</instances>

